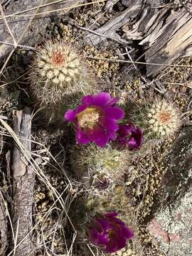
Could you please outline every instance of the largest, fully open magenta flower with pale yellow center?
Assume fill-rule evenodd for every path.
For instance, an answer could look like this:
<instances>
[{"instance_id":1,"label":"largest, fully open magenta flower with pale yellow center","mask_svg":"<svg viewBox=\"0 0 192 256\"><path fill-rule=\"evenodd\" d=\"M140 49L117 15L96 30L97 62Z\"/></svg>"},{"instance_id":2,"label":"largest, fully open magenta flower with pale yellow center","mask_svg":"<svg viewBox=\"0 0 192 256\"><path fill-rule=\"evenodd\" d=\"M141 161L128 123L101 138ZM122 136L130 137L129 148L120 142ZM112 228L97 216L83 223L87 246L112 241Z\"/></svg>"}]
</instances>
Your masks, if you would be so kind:
<instances>
[{"instance_id":1,"label":"largest, fully open magenta flower with pale yellow center","mask_svg":"<svg viewBox=\"0 0 192 256\"><path fill-rule=\"evenodd\" d=\"M117 120L124 118L124 111L115 106L117 102L118 99L110 97L109 93L99 92L83 97L82 105L76 110L68 110L65 119L75 123L76 142L105 146L116 139Z\"/></svg>"}]
</instances>

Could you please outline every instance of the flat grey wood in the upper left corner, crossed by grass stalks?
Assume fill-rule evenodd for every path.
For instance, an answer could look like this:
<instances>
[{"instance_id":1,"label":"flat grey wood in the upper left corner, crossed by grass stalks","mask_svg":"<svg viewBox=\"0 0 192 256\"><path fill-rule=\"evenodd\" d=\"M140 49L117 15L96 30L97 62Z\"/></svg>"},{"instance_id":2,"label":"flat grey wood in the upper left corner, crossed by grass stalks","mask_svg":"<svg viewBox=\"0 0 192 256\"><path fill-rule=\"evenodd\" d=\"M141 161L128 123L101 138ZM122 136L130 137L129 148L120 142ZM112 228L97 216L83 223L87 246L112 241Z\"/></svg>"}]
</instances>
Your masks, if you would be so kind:
<instances>
[{"instance_id":1,"label":"flat grey wood in the upper left corner, crossed by grass stalks","mask_svg":"<svg viewBox=\"0 0 192 256\"><path fill-rule=\"evenodd\" d=\"M2 3L0 1L6 22L8 23L10 31L16 42L18 42L18 39L21 37L24 29L28 25L31 16L36 13L36 8L39 7L37 14L33 17L31 25L23 34L22 39L19 42L22 46L33 46L36 44L40 36L45 36L46 27L50 22L50 16L57 14L54 10L63 9L59 11L59 14L65 14L70 11L71 8L74 8L75 5L83 2L82 0L70 0L57 1L58 3L51 4L54 1L56 2L56 0L3 0ZM32 10L30 11L30 9ZM14 14L14 16L11 16L12 14ZM0 60L11 48L14 47L9 44L14 45L13 37L9 33L5 24L3 14L0 14Z\"/></svg>"}]
</instances>

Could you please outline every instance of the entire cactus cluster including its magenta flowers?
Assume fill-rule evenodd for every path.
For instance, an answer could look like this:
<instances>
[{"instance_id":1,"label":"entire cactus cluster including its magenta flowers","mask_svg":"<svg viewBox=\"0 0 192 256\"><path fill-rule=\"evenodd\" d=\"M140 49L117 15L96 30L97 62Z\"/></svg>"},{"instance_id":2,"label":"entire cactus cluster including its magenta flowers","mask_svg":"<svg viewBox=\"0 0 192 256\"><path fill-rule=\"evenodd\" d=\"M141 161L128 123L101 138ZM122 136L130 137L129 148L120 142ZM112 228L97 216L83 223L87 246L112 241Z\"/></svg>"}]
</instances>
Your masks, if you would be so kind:
<instances>
[{"instance_id":1,"label":"entire cactus cluster including its magenta flowers","mask_svg":"<svg viewBox=\"0 0 192 256\"><path fill-rule=\"evenodd\" d=\"M124 119L126 107L119 107L117 97L111 97L108 92L93 95L97 87L92 86L91 80L78 51L62 41L49 41L36 53L31 71L31 90L47 112L63 112L68 107L68 99L74 94L75 100L79 101L82 95L91 93L82 97L78 106L65 112L65 121L73 123L75 127L76 139L76 144L69 146L68 169L73 171L75 181L83 186L82 191L89 192L88 195L85 193L83 201L87 211L81 210L82 215L91 218L97 211L106 213L117 210L122 213L123 220L115 218L117 213L105 214L90 221L89 226L88 237L93 244L105 252L116 252L125 247L126 240L133 237L125 234L128 228L125 228L123 221L134 231L137 229L134 210L130 211L132 206L127 202L124 186L124 174L128 174L130 160L134 152L139 155L137 152L143 144L147 145L146 142L161 142L177 132L181 127L181 118L174 104L156 98L144 105L135 105L135 114L130 119ZM123 246L117 238L118 230L122 234L124 230L122 238L127 238ZM98 237L102 240L101 244ZM112 243L108 246L109 238Z\"/></svg>"}]
</instances>

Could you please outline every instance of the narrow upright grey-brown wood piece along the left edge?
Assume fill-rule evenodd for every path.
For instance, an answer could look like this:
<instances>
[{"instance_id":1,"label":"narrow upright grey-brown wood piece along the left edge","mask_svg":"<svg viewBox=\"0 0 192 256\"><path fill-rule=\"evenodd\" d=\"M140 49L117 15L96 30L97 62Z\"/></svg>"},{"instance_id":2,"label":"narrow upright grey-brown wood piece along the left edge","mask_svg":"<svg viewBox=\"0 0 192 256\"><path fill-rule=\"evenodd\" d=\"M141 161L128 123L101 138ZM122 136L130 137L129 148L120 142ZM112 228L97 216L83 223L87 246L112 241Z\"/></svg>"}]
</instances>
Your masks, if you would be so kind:
<instances>
[{"instance_id":1,"label":"narrow upright grey-brown wood piece along the left edge","mask_svg":"<svg viewBox=\"0 0 192 256\"><path fill-rule=\"evenodd\" d=\"M16 110L14 117L14 132L20 138L27 155L31 152L31 110L25 108L23 111ZM33 188L35 174L33 168L15 144L13 151L13 227L17 233L16 256L35 255L31 234L33 213ZM23 240L23 241L22 241ZM13 245L14 247L14 245Z\"/></svg>"}]
</instances>

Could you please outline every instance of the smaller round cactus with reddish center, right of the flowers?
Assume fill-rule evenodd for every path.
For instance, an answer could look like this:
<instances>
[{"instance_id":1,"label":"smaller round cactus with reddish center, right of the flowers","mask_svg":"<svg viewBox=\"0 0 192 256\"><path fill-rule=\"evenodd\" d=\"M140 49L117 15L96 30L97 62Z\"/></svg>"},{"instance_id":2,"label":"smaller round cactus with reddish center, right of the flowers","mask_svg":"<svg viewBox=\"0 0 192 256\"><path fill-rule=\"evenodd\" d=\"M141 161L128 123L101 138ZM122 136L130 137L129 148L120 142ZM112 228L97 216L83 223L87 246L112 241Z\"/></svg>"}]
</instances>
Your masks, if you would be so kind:
<instances>
[{"instance_id":1,"label":"smaller round cactus with reddish center, right of the flowers","mask_svg":"<svg viewBox=\"0 0 192 256\"><path fill-rule=\"evenodd\" d=\"M131 118L134 124L144 130L145 141L153 139L162 142L181 127L178 108L172 102L159 97L139 106Z\"/></svg>"}]
</instances>

